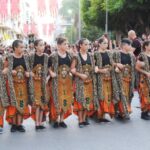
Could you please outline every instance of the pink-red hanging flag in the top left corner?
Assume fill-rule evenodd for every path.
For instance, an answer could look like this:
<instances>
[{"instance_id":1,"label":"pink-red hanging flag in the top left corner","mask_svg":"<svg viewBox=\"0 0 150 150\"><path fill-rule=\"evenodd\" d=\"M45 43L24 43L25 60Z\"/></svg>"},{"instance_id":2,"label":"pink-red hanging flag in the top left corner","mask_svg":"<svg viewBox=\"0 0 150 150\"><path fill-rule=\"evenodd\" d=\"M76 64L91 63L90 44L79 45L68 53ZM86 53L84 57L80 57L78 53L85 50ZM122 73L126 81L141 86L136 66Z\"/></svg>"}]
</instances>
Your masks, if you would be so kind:
<instances>
[{"instance_id":1,"label":"pink-red hanging flag in the top left corner","mask_svg":"<svg viewBox=\"0 0 150 150\"><path fill-rule=\"evenodd\" d=\"M8 0L0 0L0 19L8 17Z\"/></svg>"}]
</instances>

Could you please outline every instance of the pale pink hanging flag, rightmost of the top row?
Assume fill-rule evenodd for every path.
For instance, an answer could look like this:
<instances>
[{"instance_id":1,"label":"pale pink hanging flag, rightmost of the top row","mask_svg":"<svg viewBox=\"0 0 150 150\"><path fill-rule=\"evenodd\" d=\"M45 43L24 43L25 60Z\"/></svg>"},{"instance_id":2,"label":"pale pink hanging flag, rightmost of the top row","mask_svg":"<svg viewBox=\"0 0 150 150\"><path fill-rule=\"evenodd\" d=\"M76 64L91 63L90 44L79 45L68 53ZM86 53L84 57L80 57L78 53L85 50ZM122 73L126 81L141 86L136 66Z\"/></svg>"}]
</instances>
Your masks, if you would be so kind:
<instances>
[{"instance_id":1,"label":"pale pink hanging flag, rightmost of the top row","mask_svg":"<svg viewBox=\"0 0 150 150\"><path fill-rule=\"evenodd\" d=\"M58 1L57 0L49 0L49 10L53 18L57 17L58 15Z\"/></svg>"}]
</instances>

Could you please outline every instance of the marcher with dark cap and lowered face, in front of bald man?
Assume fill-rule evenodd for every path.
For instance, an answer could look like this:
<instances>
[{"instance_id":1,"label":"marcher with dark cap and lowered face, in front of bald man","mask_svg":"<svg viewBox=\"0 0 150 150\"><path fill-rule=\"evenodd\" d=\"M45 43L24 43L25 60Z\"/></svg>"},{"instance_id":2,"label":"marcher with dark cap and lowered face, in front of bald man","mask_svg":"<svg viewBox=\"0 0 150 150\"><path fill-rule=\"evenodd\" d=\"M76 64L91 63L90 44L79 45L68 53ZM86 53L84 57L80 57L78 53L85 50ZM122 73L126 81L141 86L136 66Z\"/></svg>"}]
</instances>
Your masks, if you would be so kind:
<instances>
[{"instance_id":1,"label":"marcher with dark cap and lowered face, in front of bald man","mask_svg":"<svg viewBox=\"0 0 150 150\"><path fill-rule=\"evenodd\" d=\"M118 86L119 102L117 103L117 118L129 119L131 101L134 92L135 57L130 53L131 41L123 39L121 50L114 52L114 64Z\"/></svg>"}]
</instances>

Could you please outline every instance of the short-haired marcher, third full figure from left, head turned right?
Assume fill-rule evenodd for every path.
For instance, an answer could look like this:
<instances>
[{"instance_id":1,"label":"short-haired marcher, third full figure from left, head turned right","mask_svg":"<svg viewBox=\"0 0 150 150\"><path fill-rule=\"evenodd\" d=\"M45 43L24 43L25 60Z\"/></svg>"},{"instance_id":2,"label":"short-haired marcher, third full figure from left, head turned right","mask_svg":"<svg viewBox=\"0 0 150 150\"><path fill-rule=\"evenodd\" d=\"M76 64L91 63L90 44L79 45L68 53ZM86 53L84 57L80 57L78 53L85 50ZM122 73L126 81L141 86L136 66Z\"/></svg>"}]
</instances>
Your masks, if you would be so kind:
<instances>
[{"instance_id":1,"label":"short-haired marcher, third full figure from left, head turned right","mask_svg":"<svg viewBox=\"0 0 150 150\"><path fill-rule=\"evenodd\" d=\"M57 38L57 51L50 56L50 121L53 127L67 128L64 119L71 115L73 102L71 55L67 52L68 40Z\"/></svg>"}]
</instances>

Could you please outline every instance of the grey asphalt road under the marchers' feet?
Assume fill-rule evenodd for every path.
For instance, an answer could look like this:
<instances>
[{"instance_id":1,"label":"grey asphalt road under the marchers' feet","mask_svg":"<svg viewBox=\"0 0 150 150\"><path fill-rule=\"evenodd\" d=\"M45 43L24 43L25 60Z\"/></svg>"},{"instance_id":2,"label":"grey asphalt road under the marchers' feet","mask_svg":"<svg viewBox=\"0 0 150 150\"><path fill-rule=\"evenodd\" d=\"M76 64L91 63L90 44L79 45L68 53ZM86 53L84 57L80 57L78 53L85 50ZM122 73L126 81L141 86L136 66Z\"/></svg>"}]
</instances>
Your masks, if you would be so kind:
<instances>
[{"instance_id":1,"label":"grey asphalt road under the marchers' feet","mask_svg":"<svg viewBox=\"0 0 150 150\"><path fill-rule=\"evenodd\" d=\"M139 98L135 93L131 120L96 123L80 129L77 117L65 122L67 129L53 129L48 122L44 131L35 131L34 122L24 122L25 133L10 133L5 122L0 135L0 150L150 150L150 121L140 119Z\"/></svg>"}]
</instances>

